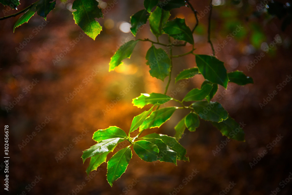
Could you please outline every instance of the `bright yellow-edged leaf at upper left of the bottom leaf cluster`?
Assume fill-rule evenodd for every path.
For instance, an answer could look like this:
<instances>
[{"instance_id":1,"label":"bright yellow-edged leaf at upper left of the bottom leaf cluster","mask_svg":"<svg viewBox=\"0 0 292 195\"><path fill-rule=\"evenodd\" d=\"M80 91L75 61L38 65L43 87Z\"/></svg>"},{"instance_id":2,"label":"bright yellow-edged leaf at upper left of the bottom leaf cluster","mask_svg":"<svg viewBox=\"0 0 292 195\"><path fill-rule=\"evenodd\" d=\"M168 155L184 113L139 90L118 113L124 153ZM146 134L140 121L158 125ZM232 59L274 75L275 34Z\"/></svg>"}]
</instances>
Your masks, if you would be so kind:
<instances>
[{"instance_id":1,"label":"bright yellow-edged leaf at upper left of the bottom leaf cluster","mask_svg":"<svg viewBox=\"0 0 292 195\"><path fill-rule=\"evenodd\" d=\"M99 142L110 138L125 138L127 134L119 127L111 126L107 129L100 129L94 132L92 139Z\"/></svg>"}]
</instances>

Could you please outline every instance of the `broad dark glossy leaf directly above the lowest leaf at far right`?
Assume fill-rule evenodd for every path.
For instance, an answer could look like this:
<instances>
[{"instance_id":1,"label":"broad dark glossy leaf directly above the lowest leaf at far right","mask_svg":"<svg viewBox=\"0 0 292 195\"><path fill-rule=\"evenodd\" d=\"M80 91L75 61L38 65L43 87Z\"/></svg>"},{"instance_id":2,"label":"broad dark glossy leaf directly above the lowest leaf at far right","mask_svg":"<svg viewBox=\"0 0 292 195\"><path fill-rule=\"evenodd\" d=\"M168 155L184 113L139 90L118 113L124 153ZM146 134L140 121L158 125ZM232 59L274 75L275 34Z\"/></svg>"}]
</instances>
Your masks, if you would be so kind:
<instances>
[{"instance_id":1,"label":"broad dark glossy leaf directly above the lowest leaf at far right","mask_svg":"<svg viewBox=\"0 0 292 195\"><path fill-rule=\"evenodd\" d=\"M228 118L227 111L218 102L197 101L192 104L194 111L201 119L213 122L221 122Z\"/></svg>"}]
</instances>

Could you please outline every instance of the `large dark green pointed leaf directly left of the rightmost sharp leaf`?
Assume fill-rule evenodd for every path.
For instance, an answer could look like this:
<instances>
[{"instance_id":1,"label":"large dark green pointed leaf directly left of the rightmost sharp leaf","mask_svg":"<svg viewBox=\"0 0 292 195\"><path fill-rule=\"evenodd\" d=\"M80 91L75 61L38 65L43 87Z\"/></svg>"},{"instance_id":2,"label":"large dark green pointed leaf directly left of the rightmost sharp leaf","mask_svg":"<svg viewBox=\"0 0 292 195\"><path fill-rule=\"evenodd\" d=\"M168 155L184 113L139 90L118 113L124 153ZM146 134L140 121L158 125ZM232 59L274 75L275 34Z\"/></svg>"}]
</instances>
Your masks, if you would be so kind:
<instances>
[{"instance_id":1,"label":"large dark green pointed leaf directly left of the rightmost sharp leaf","mask_svg":"<svg viewBox=\"0 0 292 195\"><path fill-rule=\"evenodd\" d=\"M222 61L214 56L196 54L196 63L199 72L205 79L208 79L212 83L220 84L226 89L229 80L227 70Z\"/></svg>"}]
</instances>

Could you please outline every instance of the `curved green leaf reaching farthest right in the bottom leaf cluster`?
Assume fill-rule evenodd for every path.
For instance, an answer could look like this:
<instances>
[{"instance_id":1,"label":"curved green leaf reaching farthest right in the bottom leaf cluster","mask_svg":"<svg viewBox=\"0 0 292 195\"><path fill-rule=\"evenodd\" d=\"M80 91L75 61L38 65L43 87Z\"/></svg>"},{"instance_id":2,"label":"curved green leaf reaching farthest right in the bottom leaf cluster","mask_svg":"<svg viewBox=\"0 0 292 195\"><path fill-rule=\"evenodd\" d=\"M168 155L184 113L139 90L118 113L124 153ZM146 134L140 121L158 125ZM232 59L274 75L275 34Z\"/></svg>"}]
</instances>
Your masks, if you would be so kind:
<instances>
[{"instance_id":1,"label":"curved green leaf reaching farthest right in the bottom leaf cluster","mask_svg":"<svg viewBox=\"0 0 292 195\"><path fill-rule=\"evenodd\" d=\"M148 134L141 139L156 138L161 139L164 144L169 146L173 151L177 152L178 160L189 161L189 157L185 157L187 150L175 140L174 137L169 137L163 134L152 133Z\"/></svg>"}]
</instances>

